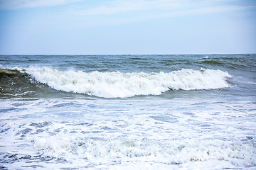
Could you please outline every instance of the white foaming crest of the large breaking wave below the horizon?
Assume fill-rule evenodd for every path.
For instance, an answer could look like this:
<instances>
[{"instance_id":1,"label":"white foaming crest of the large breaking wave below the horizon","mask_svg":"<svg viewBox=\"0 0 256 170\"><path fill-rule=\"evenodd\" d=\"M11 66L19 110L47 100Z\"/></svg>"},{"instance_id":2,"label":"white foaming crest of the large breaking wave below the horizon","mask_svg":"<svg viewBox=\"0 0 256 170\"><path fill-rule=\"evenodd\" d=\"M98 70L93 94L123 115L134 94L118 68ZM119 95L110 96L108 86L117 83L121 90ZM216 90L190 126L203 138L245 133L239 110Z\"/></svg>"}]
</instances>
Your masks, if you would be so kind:
<instances>
[{"instance_id":1,"label":"white foaming crest of the large breaking wave below the horizon","mask_svg":"<svg viewBox=\"0 0 256 170\"><path fill-rule=\"evenodd\" d=\"M181 69L170 73L75 72L28 68L28 74L53 89L104 98L159 95L164 91L219 89L228 87L227 72L213 69Z\"/></svg>"}]
</instances>

